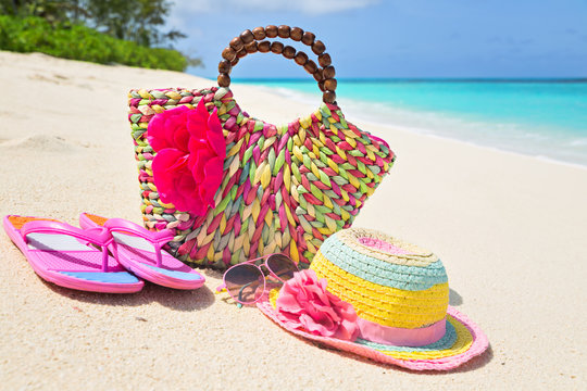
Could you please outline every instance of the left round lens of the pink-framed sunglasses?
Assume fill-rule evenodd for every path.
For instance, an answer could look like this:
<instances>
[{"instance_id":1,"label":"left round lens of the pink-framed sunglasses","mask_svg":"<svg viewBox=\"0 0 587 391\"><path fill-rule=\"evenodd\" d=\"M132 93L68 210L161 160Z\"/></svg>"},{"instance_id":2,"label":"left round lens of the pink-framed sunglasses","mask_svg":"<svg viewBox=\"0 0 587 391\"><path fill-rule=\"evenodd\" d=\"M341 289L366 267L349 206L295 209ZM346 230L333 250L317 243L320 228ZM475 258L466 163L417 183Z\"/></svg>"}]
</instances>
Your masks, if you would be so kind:
<instances>
[{"instance_id":1,"label":"left round lens of the pink-framed sunglasses","mask_svg":"<svg viewBox=\"0 0 587 391\"><path fill-rule=\"evenodd\" d=\"M264 281L259 267L249 264L235 266L224 275L228 294L242 304L254 303L263 294Z\"/></svg>"}]
</instances>

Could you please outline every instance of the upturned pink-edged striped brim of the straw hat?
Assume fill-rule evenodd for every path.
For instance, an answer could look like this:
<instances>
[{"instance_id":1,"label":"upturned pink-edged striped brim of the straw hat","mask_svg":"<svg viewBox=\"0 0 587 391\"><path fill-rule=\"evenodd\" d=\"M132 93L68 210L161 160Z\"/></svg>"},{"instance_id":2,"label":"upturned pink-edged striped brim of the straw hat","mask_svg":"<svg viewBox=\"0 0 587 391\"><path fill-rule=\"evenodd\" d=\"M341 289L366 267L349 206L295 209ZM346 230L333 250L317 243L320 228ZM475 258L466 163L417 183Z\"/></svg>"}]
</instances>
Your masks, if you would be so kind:
<instances>
[{"instance_id":1,"label":"upturned pink-edged striped brim of the straw hat","mask_svg":"<svg viewBox=\"0 0 587 391\"><path fill-rule=\"evenodd\" d=\"M421 348L383 345L365 340L351 342L315 336L288 326L286 319L274 310L268 300L262 300L257 306L276 324L295 335L379 363L398 365L412 370L453 369L482 354L489 345L487 337L477 325L451 306L447 310L447 335L438 342Z\"/></svg>"}]
</instances>

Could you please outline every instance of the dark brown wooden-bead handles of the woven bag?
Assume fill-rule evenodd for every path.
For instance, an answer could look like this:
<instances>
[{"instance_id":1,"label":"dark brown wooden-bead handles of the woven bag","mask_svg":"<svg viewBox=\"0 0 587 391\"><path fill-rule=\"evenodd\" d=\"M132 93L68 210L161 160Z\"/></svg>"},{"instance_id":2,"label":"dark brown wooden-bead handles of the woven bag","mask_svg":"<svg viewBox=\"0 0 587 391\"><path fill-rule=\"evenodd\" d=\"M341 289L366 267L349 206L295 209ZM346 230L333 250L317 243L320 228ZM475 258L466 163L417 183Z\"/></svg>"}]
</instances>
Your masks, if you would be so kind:
<instances>
[{"instance_id":1,"label":"dark brown wooden-bead handles of the woven bag","mask_svg":"<svg viewBox=\"0 0 587 391\"><path fill-rule=\"evenodd\" d=\"M301 41L302 43L312 48L314 54L319 58L319 65L315 62L308 59L308 54L302 51L296 51L296 48L290 46L284 46L279 41L268 41L265 38L291 38L295 41ZM259 43L257 41L260 41ZM246 29L240 36L235 37L230 45L222 51L222 60L218 64L218 86L230 86L230 71L233 66L238 63L238 60L250 53L255 52L267 53L273 52L275 54L283 54L288 60L294 59L297 64L303 66L303 68L311 74L319 83L320 89L323 91L322 100L324 103L334 103L336 101L336 75L335 68L332 64L332 59L326 53L326 47L321 40L316 40L316 36L310 31L304 31L300 27L289 27L280 25L279 27L268 25L265 28L255 27L252 29Z\"/></svg>"}]
</instances>

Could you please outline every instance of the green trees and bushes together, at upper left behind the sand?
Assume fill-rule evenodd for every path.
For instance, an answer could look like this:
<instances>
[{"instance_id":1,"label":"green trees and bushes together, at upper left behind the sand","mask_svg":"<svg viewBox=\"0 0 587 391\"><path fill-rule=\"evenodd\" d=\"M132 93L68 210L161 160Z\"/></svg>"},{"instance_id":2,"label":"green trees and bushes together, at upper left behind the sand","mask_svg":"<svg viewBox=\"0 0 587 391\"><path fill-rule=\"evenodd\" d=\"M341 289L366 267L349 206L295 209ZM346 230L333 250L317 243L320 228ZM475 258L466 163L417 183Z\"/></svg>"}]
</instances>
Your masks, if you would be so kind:
<instances>
[{"instance_id":1,"label":"green trees and bushes together, at upper left behind the sand","mask_svg":"<svg viewBox=\"0 0 587 391\"><path fill-rule=\"evenodd\" d=\"M172 5L170 0L0 0L0 49L175 71L201 66L200 59L173 50L183 33L160 30ZM167 49L149 49L162 46Z\"/></svg>"}]
</instances>

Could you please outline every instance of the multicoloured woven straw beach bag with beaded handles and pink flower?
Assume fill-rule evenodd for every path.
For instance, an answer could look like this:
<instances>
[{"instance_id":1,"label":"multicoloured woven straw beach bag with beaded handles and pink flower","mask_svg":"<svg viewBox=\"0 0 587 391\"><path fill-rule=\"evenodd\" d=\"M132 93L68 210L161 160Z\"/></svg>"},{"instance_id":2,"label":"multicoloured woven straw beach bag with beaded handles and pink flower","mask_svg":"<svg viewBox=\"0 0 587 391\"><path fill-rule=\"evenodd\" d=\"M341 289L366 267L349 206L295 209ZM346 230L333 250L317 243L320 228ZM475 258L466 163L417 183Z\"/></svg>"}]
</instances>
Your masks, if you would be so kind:
<instances>
[{"instance_id":1,"label":"multicoloured woven straw beach bag with beaded handles and pink flower","mask_svg":"<svg viewBox=\"0 0 587 391\"><path fill-rule=\"evenodd\" d=\"M277 37L310 46L320 66L266 40ZM320 108L282 126L243 112L228 75L258 51L302 65L323 91ZM352 224L395 155L345 119L330 56L312 33L257 27L234 38L222 56L218 87L129 92L145 225L173 229L167 250L191 266L226 268L282 252L308 267L329 235Z\"/></svg>"}]
</instances>

